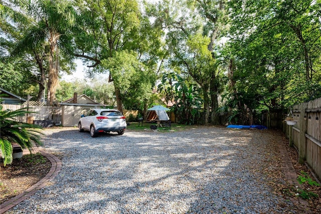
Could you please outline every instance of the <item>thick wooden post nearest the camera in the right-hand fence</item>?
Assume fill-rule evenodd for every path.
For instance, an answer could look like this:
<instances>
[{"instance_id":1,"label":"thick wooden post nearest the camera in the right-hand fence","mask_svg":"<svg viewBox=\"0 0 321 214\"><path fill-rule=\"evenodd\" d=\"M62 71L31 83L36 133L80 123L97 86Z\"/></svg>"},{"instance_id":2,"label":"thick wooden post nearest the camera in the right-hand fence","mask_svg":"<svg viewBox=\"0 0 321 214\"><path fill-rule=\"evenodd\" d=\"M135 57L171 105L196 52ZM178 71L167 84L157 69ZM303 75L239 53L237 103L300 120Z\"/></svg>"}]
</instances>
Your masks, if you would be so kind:
<instances>
[{"instance_id":1,"label":"thick wooden post nearest the camera in the right-hand fence","mask_svg":"<svg viewBox=\"0 0 321 214\"><path fill-rule=\"evenodd\" d=\"M306 121L304 120L306 103L300 104L300 117L299 117L299 129L300 129L300 140L299 140L299 163L304 164L306 159Z\"/></svg>"}]
</instances>

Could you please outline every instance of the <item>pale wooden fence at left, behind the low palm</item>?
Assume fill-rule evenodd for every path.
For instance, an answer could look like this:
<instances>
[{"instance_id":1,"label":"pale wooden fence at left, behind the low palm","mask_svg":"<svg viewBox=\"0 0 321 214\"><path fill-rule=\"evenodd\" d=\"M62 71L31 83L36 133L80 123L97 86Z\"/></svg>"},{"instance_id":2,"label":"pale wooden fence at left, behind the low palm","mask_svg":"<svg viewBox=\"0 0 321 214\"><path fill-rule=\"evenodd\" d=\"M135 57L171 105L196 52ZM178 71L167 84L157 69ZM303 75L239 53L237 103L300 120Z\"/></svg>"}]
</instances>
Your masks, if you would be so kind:
<instances>
[{"instance_id":1,"label":"pale wooden fence at left, behind the low palm","mask_svg":"<svg viewBox=\"0 0 321 214\"><path fill-rule=\"evenodd\" d=\"M26 104L2 104L3 110L19 110L27 107ZM29 105L29 112L34 112L23 117L17 118L20 122L33 123L34 120L54 120L54 124L61 123L61 109L57 106L38 106L38 105Z\"/></svg>"}]
</instances>

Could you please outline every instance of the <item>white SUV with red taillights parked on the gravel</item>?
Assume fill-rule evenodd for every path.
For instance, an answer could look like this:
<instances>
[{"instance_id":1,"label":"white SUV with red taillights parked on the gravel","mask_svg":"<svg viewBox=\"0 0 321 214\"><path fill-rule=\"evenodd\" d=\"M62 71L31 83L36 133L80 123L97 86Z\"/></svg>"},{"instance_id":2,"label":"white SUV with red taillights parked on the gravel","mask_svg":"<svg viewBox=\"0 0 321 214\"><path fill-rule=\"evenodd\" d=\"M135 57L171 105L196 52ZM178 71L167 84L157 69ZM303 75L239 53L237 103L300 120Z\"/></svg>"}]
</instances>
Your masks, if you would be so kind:
<instances>
[{"instance_id":1,"label":"white SUV with red taillights parked on the gravel","mask_svg":"<svg viewBox=\"0 0 321 214\"><path fill-rule=\"evenodd\" d=\"M88 130L93 138L102 132L117 132L122 135L126 126L125 117L115 109L91 109L81 115L78 123L79 132Z\"/></svg>"}]
</instances>

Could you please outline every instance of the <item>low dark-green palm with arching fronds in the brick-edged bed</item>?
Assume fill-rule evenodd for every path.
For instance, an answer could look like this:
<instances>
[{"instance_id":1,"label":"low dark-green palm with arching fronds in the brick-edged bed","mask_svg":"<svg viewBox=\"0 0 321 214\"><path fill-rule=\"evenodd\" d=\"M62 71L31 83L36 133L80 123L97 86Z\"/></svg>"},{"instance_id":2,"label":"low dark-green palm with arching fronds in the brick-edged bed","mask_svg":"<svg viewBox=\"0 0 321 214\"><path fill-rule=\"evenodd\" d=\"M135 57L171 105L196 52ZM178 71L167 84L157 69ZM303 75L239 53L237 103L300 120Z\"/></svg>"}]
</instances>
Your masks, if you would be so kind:
<instances>
[{"instance_id":1,"label":"low dark-green palm with arching fronds in the brick-edged bed","mask_svg":"<svg viewBox=\"0 0 321 214\"><path fill-rule=\"evenodd\" d=\"M42 145L40 126L15 120L17 117L32 113L26 109L3 110L3 106L0 105L0 155L4 159L5 166L13 161L13 143L19 144L23 149L28 148L30 153L33 144Z\"/></svg>"}]
</instances>

